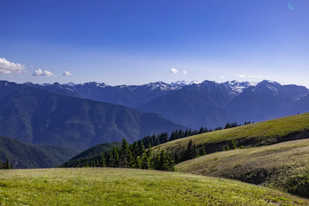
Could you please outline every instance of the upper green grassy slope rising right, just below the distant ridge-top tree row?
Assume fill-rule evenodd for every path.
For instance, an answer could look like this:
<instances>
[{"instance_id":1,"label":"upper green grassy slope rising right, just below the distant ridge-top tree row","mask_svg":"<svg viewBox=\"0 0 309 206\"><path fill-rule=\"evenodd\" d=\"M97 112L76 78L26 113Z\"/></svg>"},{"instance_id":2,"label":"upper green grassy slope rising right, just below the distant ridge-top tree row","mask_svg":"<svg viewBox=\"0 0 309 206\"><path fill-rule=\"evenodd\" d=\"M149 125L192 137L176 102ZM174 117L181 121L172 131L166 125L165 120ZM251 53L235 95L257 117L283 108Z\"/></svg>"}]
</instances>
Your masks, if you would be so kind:
<instances>
[{"instance_id":1,"label":"upper green grassy slope rising right, just below the distant ridge-top tree row","mask_svg":"<svg viewBox=\"0 0 309 206\"><path fill-rule=\"evenodd\" d=\"M288 116L241 127L208 132L167 142L157 147L173 149L186 146L190 139L198 147L205 146L206 153L222 151L232 139L236 145L246 147L271 145L278 142L304 139L309 137L309 113Z\"/></svg>"}]
</instances>

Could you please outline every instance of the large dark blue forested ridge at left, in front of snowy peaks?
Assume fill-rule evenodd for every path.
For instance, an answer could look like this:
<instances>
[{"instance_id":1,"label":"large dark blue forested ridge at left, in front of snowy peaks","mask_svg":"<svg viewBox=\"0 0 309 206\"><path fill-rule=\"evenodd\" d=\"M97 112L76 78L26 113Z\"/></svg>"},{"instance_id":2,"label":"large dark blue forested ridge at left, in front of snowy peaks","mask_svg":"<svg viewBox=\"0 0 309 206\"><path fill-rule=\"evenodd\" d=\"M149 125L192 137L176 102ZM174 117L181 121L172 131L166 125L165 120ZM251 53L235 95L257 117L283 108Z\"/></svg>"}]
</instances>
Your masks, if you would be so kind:
<instances>
[{"instance_id":1,"label":"large dark blue forested ridge at left, in front of snowy peaks","mask_svg":"<svg viewBox=\"0 0 309 206\"><path fill-rule=\"evenodd\" d=\"M0 135L33 144L78 150L186 129L154 113L111 103L25 88L0 98Z\"/></svg>"}]
</instances>

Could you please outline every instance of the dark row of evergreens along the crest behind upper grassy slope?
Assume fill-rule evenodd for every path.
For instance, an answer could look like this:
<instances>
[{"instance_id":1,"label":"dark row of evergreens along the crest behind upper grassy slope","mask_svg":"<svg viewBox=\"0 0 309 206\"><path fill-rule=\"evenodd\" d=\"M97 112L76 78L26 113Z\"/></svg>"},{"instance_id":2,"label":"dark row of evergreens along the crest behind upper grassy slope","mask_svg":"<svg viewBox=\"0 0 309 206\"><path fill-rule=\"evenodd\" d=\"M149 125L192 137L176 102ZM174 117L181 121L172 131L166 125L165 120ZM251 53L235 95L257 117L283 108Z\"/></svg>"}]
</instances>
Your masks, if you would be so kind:
<instances>
[{"instance_id":1,"label":"dark row of evergreens along the crest behind upper grassy slope","mask_svg":"<svg viewBox=\"0 0 309 206\"><path fill-rule=\"evenodd\" d=\"M252 122L254 123L254 122ZM251 122L247 122L245 121L245 124L251 124ZM191 130L191 129L186 129L186 131L182 131L181 129L178 130L176 129L176 131L172 131L171 136L168 137L168 133L167 132L162 132L161 134L153 134L153 135L148 135L143 137L141 140L138 141L138 145L141 145L141 142L144 145L151 145L152 147L166 143L168 141L173 141L173 140L177 140L177 139L181 139L184 137L191 137L193 135L197 135L197 134L203 134L206 132L213 132L213 131L217 131L217 130L221 130L221 129L228 129L228 128L233 128L233 127L239 127L239 126L243 126L243 124L237 124L237 122L234 123L226 123L225 128L223 127L216 127L215 129L208 129L206 127L201 127L199 130L195 129L195 130ZM148 146L145 146L146 149L148 148Z\"/></svg>"}]
</instances>

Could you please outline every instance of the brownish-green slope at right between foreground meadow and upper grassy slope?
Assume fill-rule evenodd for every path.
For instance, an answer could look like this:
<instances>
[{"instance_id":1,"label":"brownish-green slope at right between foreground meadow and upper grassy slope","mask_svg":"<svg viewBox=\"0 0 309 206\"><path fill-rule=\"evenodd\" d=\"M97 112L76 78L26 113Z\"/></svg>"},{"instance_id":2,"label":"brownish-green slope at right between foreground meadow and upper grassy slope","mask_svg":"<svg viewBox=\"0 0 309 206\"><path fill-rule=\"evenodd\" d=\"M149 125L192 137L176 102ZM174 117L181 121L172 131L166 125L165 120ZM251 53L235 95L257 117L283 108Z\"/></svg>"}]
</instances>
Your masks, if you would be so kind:
<instances>
[{"instance_id":1,"label":"brownish-green slope at right between foreground meadow and upper grassy slope","mask_svg":"<svg viewBox=\"0 0 309 206\"><path fill-rule=\"evenodd\" d=\"M176 170L237 179L309 198L309 139L212 153L181 162Z\"/></svg>"}]
</instances>

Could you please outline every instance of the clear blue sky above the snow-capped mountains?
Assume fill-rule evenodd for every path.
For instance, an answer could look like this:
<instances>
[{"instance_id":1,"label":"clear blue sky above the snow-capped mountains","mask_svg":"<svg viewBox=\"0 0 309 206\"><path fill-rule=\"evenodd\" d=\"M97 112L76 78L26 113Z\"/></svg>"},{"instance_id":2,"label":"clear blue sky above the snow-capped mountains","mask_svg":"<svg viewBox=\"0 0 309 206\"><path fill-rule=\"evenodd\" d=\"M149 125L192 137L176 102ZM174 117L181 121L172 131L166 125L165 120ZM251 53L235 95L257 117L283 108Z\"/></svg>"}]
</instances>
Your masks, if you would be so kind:
<instances>
[{"instance_id":1,"label":"clear blue sky above the snow-capped mountains","mask_svg":"<svg viewBox=\"0 0 309 206\"><path fill-rule=\"evenodd\" d=\"M269 79L309 88L308 0L1 5L0 58L25 65L28 73L8 74L9 67L0 79L108 85ZM38 69L56 77L32 76Z\"/></svg>"}]
</instances>

